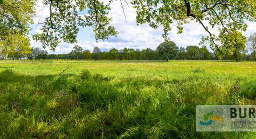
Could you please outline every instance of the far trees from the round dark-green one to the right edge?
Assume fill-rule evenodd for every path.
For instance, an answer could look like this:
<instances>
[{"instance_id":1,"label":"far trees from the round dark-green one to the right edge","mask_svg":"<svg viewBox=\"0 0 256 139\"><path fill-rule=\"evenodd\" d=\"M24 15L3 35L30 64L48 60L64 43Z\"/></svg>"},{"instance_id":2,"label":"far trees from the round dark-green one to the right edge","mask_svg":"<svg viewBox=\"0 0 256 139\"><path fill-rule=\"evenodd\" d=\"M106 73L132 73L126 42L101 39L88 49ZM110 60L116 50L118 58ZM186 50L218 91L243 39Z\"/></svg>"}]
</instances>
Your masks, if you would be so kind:
<instances>
[{"instance_id":1,"label":"far trees from the round dark-green one to the right edge","mask_svg":"<svg viewBox=\"0 0 256 139\"><path fill-rule=\"evenodd\" d=\"M228 60L244 60L244 58L250 59L250 56L246 56L246 42L248 49L253 53L254 60L256 61L256 33L250 35L248 40L239 31L232 30L229 33L222 33L219 39L220 46L215 49L216 59L228 59ZM201 42L202 43L202 42ZM215 44L216 45L216 44ZM173 41L165 41L157 47L157 52L161 54L166 61L174 59L179 55L180 59L212 59L210 58L210 52L206 46L199 48L198 46L187 46L184 48L178 48Z\"/></svg>"}]
</instances>

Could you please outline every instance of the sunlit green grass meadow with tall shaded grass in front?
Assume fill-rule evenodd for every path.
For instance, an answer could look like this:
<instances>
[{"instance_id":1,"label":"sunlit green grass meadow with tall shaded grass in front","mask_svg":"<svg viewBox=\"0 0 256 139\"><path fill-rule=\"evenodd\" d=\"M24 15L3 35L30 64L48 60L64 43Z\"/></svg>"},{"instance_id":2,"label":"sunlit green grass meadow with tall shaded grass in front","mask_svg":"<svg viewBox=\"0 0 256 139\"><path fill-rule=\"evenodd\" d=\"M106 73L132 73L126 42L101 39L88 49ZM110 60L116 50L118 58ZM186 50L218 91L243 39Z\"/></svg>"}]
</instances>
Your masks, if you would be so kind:
<instances>
[{"instance_id":1,"label":"sunlit green grass meadow with tall shaded grass in front","mask_svg":"<svg viewBox=\"0 0 256 139\"><path fill-rule=\"evenodd\" d=\"M256 62L0 61L0 137L253 139L195 123L197 104L255 98Z\"/></svg>"}]
</instances>

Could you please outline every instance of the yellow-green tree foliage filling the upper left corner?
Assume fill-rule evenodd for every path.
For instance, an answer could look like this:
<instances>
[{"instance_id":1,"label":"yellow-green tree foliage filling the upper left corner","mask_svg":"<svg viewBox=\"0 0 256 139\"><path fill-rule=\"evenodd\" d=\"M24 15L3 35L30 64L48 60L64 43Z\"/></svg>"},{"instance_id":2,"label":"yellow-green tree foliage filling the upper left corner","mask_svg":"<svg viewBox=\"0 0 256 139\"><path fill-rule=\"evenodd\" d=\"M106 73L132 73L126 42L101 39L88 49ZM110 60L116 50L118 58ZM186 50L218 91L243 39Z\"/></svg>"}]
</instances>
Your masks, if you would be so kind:
<instances>
[{"instance_id":1,"label":"yellow-green tree foliage filling the upper left corner","mask_svg":"<svg viewBox=\"0 0 256 139\"><path fill-rule=\"evenodd\" d=\"M28 44L34 5L35 0L0 0L0 48L13 51L17 42Z\"/></svg>"}]
</instances>

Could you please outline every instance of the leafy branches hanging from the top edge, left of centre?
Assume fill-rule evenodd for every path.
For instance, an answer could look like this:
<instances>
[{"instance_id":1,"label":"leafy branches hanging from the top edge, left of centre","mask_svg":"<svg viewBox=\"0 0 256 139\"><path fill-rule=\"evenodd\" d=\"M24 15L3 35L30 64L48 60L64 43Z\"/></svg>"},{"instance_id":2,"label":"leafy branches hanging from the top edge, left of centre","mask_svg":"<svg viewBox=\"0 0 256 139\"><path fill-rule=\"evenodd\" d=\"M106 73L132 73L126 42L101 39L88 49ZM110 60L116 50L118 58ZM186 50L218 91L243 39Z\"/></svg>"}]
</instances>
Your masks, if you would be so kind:
<instances>
[{"instance_id":1,"label":"leafy branches hanging from the top edge, left of centre","mask_svg":"<svg viewBox=\"0 0 256 139\"><path fill-rule=\"evenodd\" d=\"M50 16L41 22L42 33L33 35L33 39L40 41L43 47L55 49L58 43L77 42L76 34L79 27L91 26L95 32L95 39L108 39L117 34L115 28L109 25L111 18L107 16L112 0L104 3L100 0L44 0L44 5L50 8ZM79 15L79 11L88 10L86 15Z\"/></svg>"}]
</instances>

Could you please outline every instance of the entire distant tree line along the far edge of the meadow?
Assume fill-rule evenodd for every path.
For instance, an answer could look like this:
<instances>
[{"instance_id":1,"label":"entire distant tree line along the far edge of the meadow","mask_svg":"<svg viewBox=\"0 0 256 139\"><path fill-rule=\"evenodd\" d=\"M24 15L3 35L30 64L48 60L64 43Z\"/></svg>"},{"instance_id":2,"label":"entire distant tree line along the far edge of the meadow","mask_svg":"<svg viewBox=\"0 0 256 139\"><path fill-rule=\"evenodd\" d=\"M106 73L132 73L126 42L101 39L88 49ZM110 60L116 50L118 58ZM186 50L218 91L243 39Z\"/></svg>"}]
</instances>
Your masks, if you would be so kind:
<instances>
[{"instance_id":1,"label":"entire distant tree line along the far edge of the meadow","mask_svg":"<svg viewBox=\"0 0 256 139\"><path fill-rule=\"evenodd\" d=\"M95 46L92 51L83 50L81 46L75 45L68 54L48 54L46 50L30 47L27 45L18 45L14 49L0 48L1 59L34 59L34 60L254 60L256 61L256 33L251 34L246 40L241 34L236 39L229 38L230 35L223 36L222 53L215 50L210 52L206 46L186 46L178 47L169 40L157 46L156 50L127 48L109 51L103 51ZM246 43L247 42L247 49ZM251 52L248 54L248 51Z\"/></svg>"}]
</instances>

